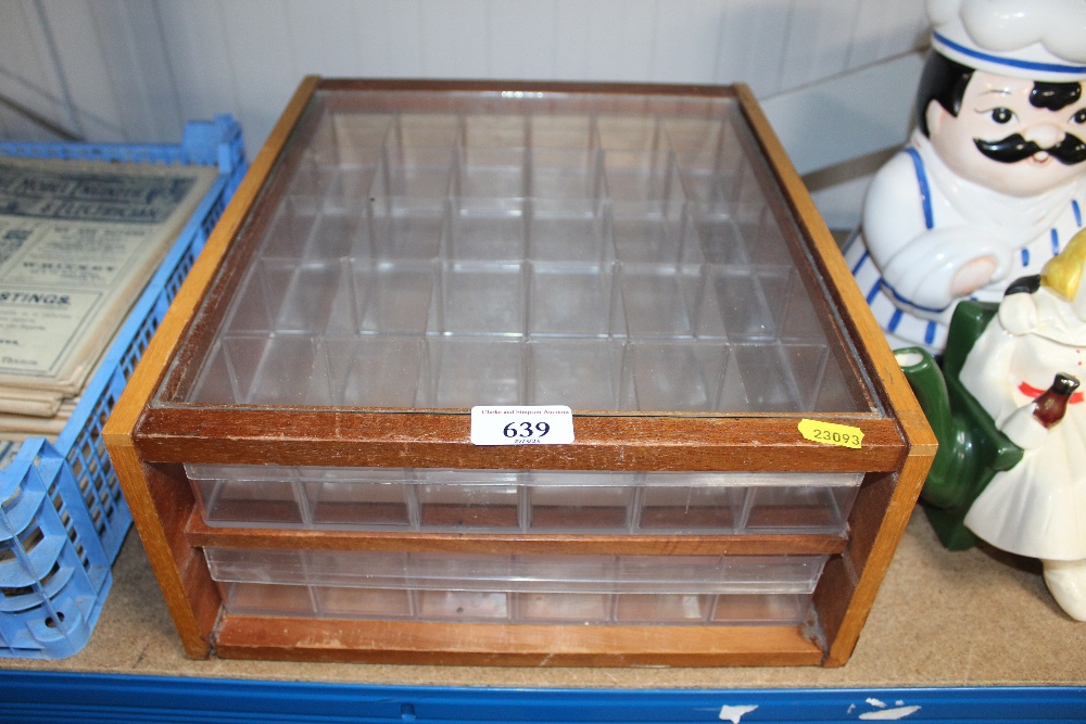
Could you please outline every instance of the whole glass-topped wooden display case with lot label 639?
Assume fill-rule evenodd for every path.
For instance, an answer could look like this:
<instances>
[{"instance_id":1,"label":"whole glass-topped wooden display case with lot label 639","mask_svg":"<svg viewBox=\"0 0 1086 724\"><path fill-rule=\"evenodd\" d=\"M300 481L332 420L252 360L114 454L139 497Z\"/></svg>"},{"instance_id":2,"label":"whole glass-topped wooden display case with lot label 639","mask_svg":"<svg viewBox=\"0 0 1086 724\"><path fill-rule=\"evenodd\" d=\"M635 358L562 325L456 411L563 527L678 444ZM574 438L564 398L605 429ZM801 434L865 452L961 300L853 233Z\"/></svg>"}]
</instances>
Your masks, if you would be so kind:
<instances>
[{"instance_id":1,"label":"whole glass-topped wooden display case with lot label 639","mask_svg":"<svg viewBox=\"0 0 1086 724\"><path fill-rule=\"evenodd\" d=\"M577 224L552 234L557 218ZM318 244L316 256L301 252ZM567 256L556 259L561 244ZM386 288L372 270L388 268L390 253L421 264L422 297L404 297L407 277L395 277L391 296L374 302ZM570 271L585 256L594 271ZM544 294L540 280L553 264L566 265L563 294L589 291ZM513 321L488 317L494 297L462 306L478 290L506 288L465 269L514 268ZM295 293L302 276L317 281ZM572 283L582 278L591 283ZM430 306L412 322L417 299ZM388 339L407 346L383 363L369 347L342 353ZM460 361L471 373L446 371L453 343L480 340L490 346ZM618 361L598 378L572 367L544 373L541 359L568 360L581 346ZM491 373L506 350L519 355L508 367L519 371ZM345 359L368 360L348 383L337 372ZM359 392L359 380L381 379ZM472 404L563 395L574 442L471 443ZM809 440L810 421L862 436L854 446ZM936 448L745 87L321 78L304 80L286 109L104 437L190 656L505 665L845 663ZM533 528L523 512L506 528L447 516L430 528L324 525L308 513L298 524L262 523L272 520L261 518L274 507L266 500L247 508L242 518L252 520L224 524L205 517L209 496L187 472L200 466L626 473L634 497L637 475L656 473L774 473L800 490L819 474L859 478L839 529L790 528L780 521L795 509L778 506L767 516L776 528L699 529L683 518L654 530L628 512L633 522L621 531L578 532ZM532 492L547 490L544 482ZM276 596L267 610L231 608L205 549L213 559L270 551L269 560L283 551L677 563L816 556L824 567L798 621L585 625L293 615Z\"/></svg>"}]
</instances>

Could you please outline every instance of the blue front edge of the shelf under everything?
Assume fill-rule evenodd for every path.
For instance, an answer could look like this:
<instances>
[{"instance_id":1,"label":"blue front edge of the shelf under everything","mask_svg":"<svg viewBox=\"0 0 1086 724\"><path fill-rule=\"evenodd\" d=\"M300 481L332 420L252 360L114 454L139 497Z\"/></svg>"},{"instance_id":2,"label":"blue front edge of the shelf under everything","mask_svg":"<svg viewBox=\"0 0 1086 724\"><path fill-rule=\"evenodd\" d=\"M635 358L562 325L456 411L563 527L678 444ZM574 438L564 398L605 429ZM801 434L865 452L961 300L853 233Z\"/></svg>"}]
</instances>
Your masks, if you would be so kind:
<instances>
[{"instance_id":1,"label":"blue front edge of the shelf under everything","mask_svg":"<svg viewBox=\"0 0 1086 724\"><path fill-rule=\"evenodd\" d=\"M1086 687L502 689L5 671L0 722L1083 722Z\"/></svg>"}]
</instances>

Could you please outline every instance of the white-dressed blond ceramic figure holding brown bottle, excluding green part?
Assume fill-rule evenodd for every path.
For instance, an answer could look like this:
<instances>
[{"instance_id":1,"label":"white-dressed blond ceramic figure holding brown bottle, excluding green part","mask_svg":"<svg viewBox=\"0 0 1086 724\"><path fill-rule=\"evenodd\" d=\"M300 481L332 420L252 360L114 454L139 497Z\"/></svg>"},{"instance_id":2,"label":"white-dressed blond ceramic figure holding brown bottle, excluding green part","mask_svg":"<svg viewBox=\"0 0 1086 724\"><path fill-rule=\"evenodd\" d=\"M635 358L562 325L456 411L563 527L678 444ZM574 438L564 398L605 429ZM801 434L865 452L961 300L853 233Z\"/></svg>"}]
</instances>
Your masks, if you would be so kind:
<instances>
[{"instance_id":1,"label":"white-dressed blond ceramic figure holding brown bottle, excluding green part","mask_svg":"<svg viewBox=\"0 0 1086 724\"><path fill-rule=\"evenodd\" d=\"M997 473L965 516L992 545L1039 558L1045 582L1086 621L1086 231L1039 277L1013 284L961 368L965 390L1022 460Z\"/></svg>"}]
</instances>

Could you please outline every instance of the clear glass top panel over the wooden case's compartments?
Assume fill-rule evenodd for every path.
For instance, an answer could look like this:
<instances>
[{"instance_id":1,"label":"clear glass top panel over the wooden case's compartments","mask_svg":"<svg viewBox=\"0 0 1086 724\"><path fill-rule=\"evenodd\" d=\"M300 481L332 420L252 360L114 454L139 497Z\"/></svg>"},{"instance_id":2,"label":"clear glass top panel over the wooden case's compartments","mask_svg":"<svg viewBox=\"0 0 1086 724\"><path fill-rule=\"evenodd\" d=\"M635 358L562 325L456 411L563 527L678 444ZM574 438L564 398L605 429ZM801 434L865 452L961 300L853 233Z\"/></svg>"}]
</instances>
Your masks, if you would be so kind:
<instances>
[{"instance_id":1,"label":"clear glass top panel over the wooden case's compartments","mask_svg":"<svg viewBox=\"0 0 1086 724\"><path fill-rule=\"evenodd\" d=\"M318 91L155 404L875 409L756 149L727 97Z\"/></svg>"}]
</instances>

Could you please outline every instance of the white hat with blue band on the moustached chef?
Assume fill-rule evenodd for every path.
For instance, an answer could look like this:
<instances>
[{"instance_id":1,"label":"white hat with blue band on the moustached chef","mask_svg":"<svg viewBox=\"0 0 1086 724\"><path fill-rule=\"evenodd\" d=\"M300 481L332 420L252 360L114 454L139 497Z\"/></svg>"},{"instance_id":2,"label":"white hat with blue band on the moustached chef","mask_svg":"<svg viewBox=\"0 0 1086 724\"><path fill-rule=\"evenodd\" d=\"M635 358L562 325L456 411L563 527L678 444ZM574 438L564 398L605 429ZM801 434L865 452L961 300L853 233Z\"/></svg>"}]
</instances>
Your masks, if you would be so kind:
<instances>
[{"instance_id":1,"label":"white hat with blue band on the moustached chef","mask_svg":"<svg viewBox=\"0 0 1086 724\"><path fill-rule=\"evenodd\" d=\"M1086 80L1086 0L927 0L933 48L1032 80Z\"/></svg>"}]
</instances>

